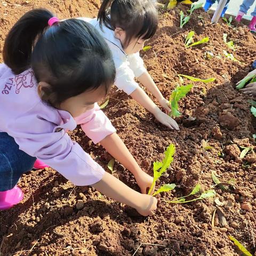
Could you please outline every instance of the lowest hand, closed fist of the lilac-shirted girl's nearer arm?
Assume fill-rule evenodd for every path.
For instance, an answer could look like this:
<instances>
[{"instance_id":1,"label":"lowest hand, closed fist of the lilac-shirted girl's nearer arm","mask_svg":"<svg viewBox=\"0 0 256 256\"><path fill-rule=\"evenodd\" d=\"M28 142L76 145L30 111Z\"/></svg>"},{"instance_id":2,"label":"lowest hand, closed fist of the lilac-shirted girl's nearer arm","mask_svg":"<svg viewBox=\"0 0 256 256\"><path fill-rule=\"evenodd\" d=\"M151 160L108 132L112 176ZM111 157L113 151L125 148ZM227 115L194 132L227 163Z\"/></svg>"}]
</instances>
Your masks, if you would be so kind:
<instances>
[{"instance_id":1,"label":"lowest hand, closed fist of the lilac-shirted girl's nearer arm","mask_svg":"<svg viewBox=\"0 0 256 256\"><path fill-rule=\"evenodd\" d=\"M136 198L134 198L136 200ZM157 208L157 199L150 195L141 195L138 198L140 206L136 208L137 212L143 216L148 216L153 213Z\"/></svg>"}]
</instances>

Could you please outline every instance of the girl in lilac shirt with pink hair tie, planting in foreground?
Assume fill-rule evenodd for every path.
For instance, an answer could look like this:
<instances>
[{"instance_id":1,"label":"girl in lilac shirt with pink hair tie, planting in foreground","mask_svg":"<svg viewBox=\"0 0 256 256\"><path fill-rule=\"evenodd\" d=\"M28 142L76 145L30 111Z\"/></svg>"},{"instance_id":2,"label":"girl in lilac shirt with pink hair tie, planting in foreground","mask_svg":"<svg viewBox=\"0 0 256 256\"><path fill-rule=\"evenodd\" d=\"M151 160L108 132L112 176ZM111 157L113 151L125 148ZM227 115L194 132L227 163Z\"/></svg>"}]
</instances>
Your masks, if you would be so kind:
<instances>
[{"instance_id":1,"label":"girl in lilac shirt with pink hair tie, planting in foreground","mask_svg":"<svg viewBox=\"0 0 256 256\"><path fill-rule=\"evenodd\" d=\"M132 190L105 172L71 141L81 124L94 143L130 170L146 193L153 178L143 172L97 105L115 79L111 52L88 23L60 22L37 9L23 15L7 35L0 65L0 209L22 199L16 186L36 158L77 186L103 194L148 215L156 199Z\"/></svg>"}]
</instances>

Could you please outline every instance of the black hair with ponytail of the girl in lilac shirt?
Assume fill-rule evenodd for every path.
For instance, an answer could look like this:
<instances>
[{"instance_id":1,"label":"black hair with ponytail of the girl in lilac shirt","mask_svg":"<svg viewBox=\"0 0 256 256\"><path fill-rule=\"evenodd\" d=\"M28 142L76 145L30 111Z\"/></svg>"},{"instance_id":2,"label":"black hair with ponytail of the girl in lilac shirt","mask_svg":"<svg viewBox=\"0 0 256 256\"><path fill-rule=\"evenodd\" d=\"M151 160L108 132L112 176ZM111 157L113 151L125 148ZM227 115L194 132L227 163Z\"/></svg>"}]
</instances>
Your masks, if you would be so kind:
<instances>
[{"instance_id":1,"label":"black hair with ponytail of the girl in lilac shirt","mask_svg":"<svg viewBox=\"0 0 256 256\"><path fill-rule=\"evenodd\" d=\"M24 14L6 37L3 59L14 74L32 68L38 82L47 82L41 98L55 106L115 80L111 52L89 23L69 19L54 23L53 14L35 9Z\"/></svg>"}]
</instances>

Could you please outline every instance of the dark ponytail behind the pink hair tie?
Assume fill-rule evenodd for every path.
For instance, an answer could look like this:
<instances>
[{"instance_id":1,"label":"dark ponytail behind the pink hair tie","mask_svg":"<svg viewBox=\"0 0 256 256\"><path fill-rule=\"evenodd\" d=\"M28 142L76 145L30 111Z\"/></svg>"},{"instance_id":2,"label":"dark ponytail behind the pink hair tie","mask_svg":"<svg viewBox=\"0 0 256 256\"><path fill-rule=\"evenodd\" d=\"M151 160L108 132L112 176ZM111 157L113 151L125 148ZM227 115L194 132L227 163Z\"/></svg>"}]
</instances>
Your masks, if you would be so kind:
<instances>
[{"instance_id":1,"label":"dark ponytail behind the pink hair tie","mask_svg":"<svg viewBox=\"0 0 256 256\"><path fill-rule=\"evenodd\" d=\"M30 67L31 53L53 14L45 9L35 9L24 14L10 30L4 43L3 59L14 74Z\"/></svg>"}]
</instances>

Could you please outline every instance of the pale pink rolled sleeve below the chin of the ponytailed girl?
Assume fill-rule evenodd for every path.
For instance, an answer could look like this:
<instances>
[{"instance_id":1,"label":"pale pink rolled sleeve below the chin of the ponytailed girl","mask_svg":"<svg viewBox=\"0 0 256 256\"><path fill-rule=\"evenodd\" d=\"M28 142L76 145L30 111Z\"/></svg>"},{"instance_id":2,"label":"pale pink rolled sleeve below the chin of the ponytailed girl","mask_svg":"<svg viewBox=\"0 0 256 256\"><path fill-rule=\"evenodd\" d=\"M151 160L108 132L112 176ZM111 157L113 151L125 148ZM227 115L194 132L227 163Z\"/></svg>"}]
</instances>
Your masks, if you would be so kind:
<instances>
[{"instance_id":1,"label":"pale pink rolled sleeve below the chin of the ponytailed girl","mask_svg":"<svg viewBox=\"0 0 256 256\"><path fill-rule=\"evenodd\" d=\"M75 121L77 124L81 124L85 134L95 144L106 138L108 135L116 132L115 127L111 124L102 110L100 110L97 103L95 103L93 109L76 117Z\"/></svg>"}]
</instances>

